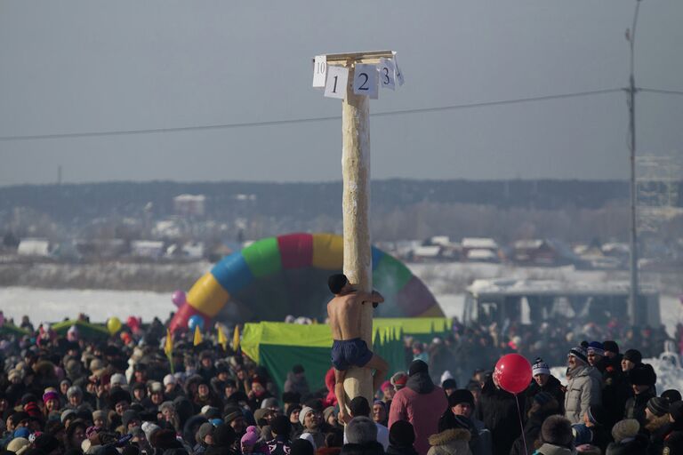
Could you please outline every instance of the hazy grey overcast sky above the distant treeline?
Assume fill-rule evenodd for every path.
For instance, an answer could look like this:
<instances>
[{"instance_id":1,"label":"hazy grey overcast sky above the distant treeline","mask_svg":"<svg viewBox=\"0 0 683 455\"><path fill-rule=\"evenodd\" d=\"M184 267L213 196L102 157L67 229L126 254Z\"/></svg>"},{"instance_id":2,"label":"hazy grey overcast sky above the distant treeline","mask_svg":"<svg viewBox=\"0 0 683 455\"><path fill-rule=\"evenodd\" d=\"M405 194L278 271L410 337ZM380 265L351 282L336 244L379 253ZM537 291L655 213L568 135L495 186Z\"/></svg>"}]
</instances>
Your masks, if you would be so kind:
<instances>
[{"instance_id":1,"label":"hazy grey overcast sky above the distant treeline","mask_svg":"<svg viewBox=\"0 0 683 455\"><path fill-rule=\"evenodd\" d=\"M628 84L629 0L0 0L0 138L341 115L318 53L390 49L406 84L371 112ZM683 2L644 0L637 84L683 91ZM642 155L683 150L683 96L640 93ZM628 176L626 95L371 118L373 177ZM341 179L340 119L2 140L0 185Z\"/></svg>"}]
</instances>

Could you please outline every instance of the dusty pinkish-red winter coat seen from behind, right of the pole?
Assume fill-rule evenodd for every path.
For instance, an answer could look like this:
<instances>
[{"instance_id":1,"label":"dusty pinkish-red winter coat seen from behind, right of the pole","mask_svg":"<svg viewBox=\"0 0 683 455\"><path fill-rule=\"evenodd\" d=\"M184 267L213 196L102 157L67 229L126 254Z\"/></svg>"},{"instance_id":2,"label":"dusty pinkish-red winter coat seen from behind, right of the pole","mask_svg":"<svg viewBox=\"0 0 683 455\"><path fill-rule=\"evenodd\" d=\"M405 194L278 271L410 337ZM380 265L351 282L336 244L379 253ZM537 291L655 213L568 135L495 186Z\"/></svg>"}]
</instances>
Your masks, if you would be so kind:
<instances>
[{"instance_id":1,"label":"dusty pinkish-red winter coat seen from behind, right of the pole","mask_svg":"<svg viewBox=\"0 0 683 455\"><path fill-rule=\"evenodd\" d=\"M447 407L444 389L435 386L426 372L416 373L394 395L388 427L397 420L410 422L415 430L415 450L425 455L430 450L427 438L438 433L438 418Z\"/></svg>"}]
</instances>

